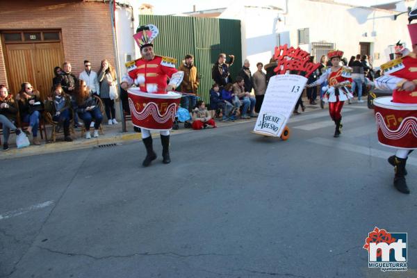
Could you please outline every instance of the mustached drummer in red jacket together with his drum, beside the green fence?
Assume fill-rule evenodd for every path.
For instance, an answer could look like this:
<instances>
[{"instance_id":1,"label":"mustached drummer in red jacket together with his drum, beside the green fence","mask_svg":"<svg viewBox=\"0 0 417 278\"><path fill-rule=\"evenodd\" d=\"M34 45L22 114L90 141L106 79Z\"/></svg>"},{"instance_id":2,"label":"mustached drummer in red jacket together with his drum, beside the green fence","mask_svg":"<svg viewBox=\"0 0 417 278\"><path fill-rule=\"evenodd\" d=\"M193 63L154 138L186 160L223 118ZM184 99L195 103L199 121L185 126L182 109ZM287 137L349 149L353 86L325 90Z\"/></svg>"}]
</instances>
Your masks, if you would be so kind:
<instances>
[{"instance_id":1,"label":"mustached drummer in red jacket together with his drum, beside the green fence","mask_svg":"<svg viewBox=\"0 0 417 278\"><path fill-rule=\"evenodd\" d=\"M128 73L120 85L128 91L132 122L142 131L147 151L142 165L147 167L156 159L151 130L160 131L163 163L171 162L170 129L181 99L181 95L172 90L181 84L183 72L176 70L175 59L154 54L152 41L158 35L156 26L140 26L136 32L133 38L140 47L142 58L126 63ZM167 84L168 78L170 82ZM129 88L133 84L138 88Z\"/></svg>"}]
</instances>

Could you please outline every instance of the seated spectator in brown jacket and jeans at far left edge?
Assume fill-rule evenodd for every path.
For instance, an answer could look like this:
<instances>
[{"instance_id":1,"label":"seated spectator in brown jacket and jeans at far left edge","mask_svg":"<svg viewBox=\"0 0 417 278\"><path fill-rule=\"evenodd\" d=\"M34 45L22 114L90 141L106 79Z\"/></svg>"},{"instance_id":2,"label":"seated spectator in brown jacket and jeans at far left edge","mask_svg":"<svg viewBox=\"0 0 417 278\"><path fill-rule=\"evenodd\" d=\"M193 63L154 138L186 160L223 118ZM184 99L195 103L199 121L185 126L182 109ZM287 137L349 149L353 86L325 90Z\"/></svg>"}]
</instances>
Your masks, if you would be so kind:
<instances>
[{"instance_id":1,"label":"seated spectator in brown jacket and jeans at far left edge","mask_svg":"<svg viewBox=\"0 0 417 278\"><path fill-rule=\"evenodd\" d=\"M17 111L12 95L8 94L5 85L0 85L0 123L3 125L3 151L9 149L8 138L10 130L15 131L16 136L19 136L21 133L20 129L17 129L15 126Z\"/></svg>"}]
</instances>

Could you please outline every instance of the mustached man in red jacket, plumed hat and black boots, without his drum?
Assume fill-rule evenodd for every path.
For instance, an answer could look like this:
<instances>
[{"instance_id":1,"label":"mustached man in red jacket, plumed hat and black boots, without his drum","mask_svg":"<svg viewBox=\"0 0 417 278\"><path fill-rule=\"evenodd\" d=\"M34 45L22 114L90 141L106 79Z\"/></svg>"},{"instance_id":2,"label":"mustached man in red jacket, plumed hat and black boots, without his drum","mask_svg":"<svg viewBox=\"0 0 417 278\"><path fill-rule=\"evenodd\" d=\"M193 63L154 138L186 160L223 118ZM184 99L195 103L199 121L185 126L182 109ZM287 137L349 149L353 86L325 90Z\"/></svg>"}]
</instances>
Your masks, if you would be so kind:
<instances>
[{"instance_id":1,"label":"mustached man in red jacket, plumed hat and black boots, without his drum","mask_svg":"<svg viewBox=\"0 0 417 278\"><path fill-rule=\"evenodd\" d=\"M142 92L154 94L166 94L177 88L183 79L183 72L177 71L174 58L156 56L154 54L154 44L152 41L158 35L158 28L154 25L140 26L133 35L136 43L140 47L142 58L126 63L128 72L122 78L120 86L127 90L129 86L135 84ZM170 82L167 84L167 80ZM141 128L142 141L145 144L147 155L142 165L147 167L156 159L153 149L151 131ZM163 163L171 162L170 159L170 131L160 131L161 143L163 147Z\"/></svg>"}]
</instances>

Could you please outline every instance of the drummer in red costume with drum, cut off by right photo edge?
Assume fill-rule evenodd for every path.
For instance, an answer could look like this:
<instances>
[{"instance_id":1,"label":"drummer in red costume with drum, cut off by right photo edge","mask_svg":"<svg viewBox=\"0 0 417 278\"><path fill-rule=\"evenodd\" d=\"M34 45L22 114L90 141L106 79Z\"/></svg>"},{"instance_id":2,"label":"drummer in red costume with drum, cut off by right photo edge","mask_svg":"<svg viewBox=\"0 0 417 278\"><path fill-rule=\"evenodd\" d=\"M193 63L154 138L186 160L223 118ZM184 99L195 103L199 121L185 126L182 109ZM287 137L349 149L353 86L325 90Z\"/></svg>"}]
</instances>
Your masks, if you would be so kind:
<instances>
[{"instance_id":1,"label":"drummer in red costume with drum, cut off by right photo edge","mask_svg":"<svg viewBox=\"0 0 417 278\"><path fill-rule=\"evenodd\" d=\"M394 166L394 186L401 193L409 194L409 188L405 181L407 170L405 165L411 152L417 147L417 24L411 24L413 19L417 19L417 9L414 7L409 13L409 33L411 37L412 51L407 56L391 60L381 66L384 75L375 79L375 86L382 90L393 90L391 104L386 106L378 104L379 98L374 100L375 117L377 119L378 139L381 142L389 138L386 142L381 142L389 147L397 148L394 156L390 156L388 161ZM382 98L381 98L382 99ZM379 107L377 107L379 105ZM381 109L388 111L387 115L379 112ZM391 109L392 108L392 109ZM404 110L406 113L404 114ZM398 129L392 130L391 122ZM383 134L382 134L383 133ZM395 137L394 137L395 136Z\"/></svg>"}]
</instances>

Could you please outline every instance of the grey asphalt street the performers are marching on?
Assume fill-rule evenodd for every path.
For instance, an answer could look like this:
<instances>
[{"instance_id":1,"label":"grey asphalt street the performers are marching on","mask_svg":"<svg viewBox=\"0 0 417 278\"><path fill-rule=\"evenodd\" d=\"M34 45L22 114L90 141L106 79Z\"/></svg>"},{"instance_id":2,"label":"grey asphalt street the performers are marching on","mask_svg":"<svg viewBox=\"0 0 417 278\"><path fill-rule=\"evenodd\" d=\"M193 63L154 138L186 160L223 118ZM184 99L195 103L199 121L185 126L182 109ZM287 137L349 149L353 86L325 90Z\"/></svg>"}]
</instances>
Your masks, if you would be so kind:
<instances>
[{"instance_id":1,"label":"grey asphalt street the performers are marching on","mask_svg":"<svg viewBox=\"0 0 417 278\"><path fill-rule=\"evenodd\" d=\"M293 117L287 141L254 121L172 136L172 163L141 142L0 161L0 277L417 277L417 156L410 195L373 111ZM414 156L414 157L413 157ZM368 269L374 227L408 232L404 273Z\"/></svg>"}]
</instances>

